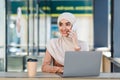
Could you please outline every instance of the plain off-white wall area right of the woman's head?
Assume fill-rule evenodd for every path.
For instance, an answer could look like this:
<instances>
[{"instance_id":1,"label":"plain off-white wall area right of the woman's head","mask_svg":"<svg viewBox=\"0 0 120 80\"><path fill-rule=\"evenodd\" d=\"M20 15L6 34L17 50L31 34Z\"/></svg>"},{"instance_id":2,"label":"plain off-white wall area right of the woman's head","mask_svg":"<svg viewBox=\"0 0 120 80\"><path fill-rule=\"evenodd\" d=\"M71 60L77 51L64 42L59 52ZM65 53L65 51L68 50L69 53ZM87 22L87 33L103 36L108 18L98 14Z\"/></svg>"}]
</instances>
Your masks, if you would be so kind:
<instances>
[{"instance_id":1,"label":"plain off-white wall area right of the woman's head","mask_svg":"<svg viewBox=\"0 0 120 80\"><path fill-rule=\"evenodd\" d=\"M78 39L86 41L90 49L93 47L93 18L92 16L77 17L75 25Z\"/></svg>"}]
</instances>

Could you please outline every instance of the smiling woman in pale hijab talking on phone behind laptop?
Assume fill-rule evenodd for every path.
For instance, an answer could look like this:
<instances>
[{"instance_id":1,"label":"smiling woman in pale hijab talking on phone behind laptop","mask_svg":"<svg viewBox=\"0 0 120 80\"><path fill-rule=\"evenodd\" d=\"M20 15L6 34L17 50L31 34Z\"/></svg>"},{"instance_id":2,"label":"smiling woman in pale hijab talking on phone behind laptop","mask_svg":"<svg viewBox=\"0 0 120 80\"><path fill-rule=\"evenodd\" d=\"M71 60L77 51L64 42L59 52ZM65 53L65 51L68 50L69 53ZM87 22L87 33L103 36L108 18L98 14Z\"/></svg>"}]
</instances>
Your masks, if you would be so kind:
<instances>
[{"instance_id":1,"label":"smiling woman in pale hijab talking on phone behind laptop","mask_svg":"<svg viewBox=\"0 0 120 80\"><path fill-rule=\"evenodd\" d=\"M75 21L75 16L68 12L64 12L58 17L57 24L61 37L52 39L47 44L42 72L62 73L65 51L88 51L88 45L79 41L77 34L72 31ZM51 65L52 63L53 65Z\"/></svg>"}]
</instances>

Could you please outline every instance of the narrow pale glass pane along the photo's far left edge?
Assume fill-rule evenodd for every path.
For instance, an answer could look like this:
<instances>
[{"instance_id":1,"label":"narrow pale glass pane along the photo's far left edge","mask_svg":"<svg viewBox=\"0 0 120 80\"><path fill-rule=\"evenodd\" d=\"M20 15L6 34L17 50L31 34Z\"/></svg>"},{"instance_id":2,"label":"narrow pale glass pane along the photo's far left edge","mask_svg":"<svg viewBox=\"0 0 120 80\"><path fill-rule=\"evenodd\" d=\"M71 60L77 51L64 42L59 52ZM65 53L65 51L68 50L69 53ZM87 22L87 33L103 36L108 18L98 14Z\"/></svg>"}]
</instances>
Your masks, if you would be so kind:
<instances>
[{"instance_id":1,"label":"narrow pale glass pane along the photo's far left edge","mask_svg":"<svg viewBox=\"0 0 120 80\"><path fill-rule=\"evenodd\" d=\"M5 71L5 1L0 0L0 72Z\"/></svg>"}]
</instances>

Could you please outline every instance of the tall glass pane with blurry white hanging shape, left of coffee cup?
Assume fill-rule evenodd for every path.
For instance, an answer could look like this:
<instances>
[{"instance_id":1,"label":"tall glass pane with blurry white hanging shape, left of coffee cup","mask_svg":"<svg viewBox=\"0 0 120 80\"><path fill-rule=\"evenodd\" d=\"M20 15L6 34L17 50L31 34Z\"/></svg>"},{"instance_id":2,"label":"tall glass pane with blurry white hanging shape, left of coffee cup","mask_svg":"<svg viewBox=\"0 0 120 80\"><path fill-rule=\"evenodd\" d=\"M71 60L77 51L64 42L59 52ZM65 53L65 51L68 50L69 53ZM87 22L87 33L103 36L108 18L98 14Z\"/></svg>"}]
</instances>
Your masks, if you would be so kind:
<instances>
[{"instance_id":1,"label":"tall glass pane with blurry white hanging shape, left of coffee cup","mask_svg":"<svg viewBox=\"0 0 120 80\"><path fill-rule=\"evenodd\" d=\"M7 0L7 4L7 71L21 72L27 55L27 0Z\"/></svg>"}]
</instances>

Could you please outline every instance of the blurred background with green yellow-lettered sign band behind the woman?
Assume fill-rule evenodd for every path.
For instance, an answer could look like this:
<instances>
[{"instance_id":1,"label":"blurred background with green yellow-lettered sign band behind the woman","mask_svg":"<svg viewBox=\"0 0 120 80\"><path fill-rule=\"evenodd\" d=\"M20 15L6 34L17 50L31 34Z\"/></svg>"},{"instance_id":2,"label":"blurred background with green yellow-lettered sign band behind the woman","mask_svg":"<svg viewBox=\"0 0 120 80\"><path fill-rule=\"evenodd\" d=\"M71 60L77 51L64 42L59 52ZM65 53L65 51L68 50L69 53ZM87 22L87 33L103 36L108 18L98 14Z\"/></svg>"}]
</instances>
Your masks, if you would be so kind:
<instances>
[{"instance_id":1,"label":"blurred background with green yellow-lettered sign band behind the woman","mask_svg":"<svg viewBox=\"0 0 120 80\"><path fill-rule=\"evenodd\" d=\"M0 0L0 3L3 3L0 5L0 71L26 72L27 58L34 57L39 60L38 72L41 72L47 42L59 37L57 17L62 12L76 16L78 39L94 50L93 0Z\"/></svg>"}]
</instances>

